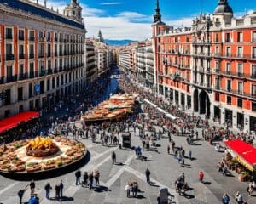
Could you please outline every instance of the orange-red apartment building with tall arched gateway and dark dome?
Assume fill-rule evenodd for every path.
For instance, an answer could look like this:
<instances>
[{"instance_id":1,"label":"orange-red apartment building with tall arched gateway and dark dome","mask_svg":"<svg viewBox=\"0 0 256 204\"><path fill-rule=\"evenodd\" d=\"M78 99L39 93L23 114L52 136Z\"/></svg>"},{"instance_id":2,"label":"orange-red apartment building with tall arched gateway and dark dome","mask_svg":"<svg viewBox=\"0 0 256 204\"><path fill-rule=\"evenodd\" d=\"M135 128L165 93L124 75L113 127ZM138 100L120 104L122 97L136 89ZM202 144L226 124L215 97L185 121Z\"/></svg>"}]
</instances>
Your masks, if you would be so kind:
<instances>
[{"instance_id":1,"label":"orange-red apartment building with tall arched gateway and dark dome","mask_svg":"<svg viewBox=\"0 0 256 204\"><path fill-rule=\"evenodd\" d=\"M191 27L154 14L155 86L173 103L220 124L256 130L256 13L235 18L226 0Z\"/></svg>"}]
</instances>

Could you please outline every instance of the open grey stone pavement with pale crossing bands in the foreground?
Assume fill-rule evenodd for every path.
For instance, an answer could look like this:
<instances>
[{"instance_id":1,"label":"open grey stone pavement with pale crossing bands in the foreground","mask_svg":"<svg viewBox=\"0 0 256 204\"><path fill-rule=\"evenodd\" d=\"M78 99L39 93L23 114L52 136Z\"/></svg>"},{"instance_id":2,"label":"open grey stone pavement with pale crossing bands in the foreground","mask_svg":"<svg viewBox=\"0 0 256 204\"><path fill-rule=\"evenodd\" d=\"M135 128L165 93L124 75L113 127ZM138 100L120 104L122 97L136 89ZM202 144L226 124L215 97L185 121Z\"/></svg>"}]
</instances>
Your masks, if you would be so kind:
<instances>
[{"instance_id":1,"label":"open grey stone pavement with pale crossing bands in the foreground","mask_svg":"<svg viewBox=\"0 0 256 204\"><path fill-rule=\"evenodd\" d=\"M158 151L143 151L143 155L148 157L148 161L137 160L133 150L119 150L113 146L103 146L93 144L90 139L81 139L87 145L90 154L90 161L81 167L81 171L88 171L98 168L101 177L101 188L98 190L89 190L82 186L75 185L74 172L61 176L36 181L36 192L41 203L58 203L59 201L48 201L45 199L44 184L50 182L53 186L61 179L65 185L64 195L67 203L156 203L159 193L159 187L166 186L170 193L175 196L173 203L221 203L220 199L224 191L234 195L240 190L246 197L246 184L240 183L236 177L224 177L216 169L216 164L222 154L216 152L212 146L203 142L196 141L195 145L188 146L184 137L174 137L177 145L183 145L184 150L192 150L193 161L185 161L187 167L181 167L174 156L167 154L167 139L160 139ZM141 145L140 139L132 133L132 145ZM113 165L111 153L115 150L117 162L119 165ZM145 182L145 169L151 171L153 185ZM74 169L75 171L75 169ZM198 173L205 173L206 184L198 181ZM180 173L185 173L186 180L191 186L187 195L179 196L174 192L174 181ZM137 199L126 198L125 184L129 181L137 181L141 192ZM3 204L18 203L17 192L24 188L29 181L15 181L9 178L0 177L0 201ZM54 190L51 190L51 196L55 196ZM29 190L26 191L24 201L29 199ZM255 197L250 197L248 203L255 203Z\"/></svg>"}]
</instances>

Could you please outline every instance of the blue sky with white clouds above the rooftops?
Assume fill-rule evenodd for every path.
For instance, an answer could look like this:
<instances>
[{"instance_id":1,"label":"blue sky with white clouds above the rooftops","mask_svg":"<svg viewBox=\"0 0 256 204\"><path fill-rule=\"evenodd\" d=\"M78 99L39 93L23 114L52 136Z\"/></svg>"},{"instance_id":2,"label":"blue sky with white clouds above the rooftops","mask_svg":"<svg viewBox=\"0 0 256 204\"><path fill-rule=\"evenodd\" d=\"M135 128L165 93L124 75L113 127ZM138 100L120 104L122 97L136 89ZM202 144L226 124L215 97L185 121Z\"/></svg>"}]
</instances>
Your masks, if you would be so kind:
<instances>
[{"instance_id":1,"label":"blue sky with white clouds above the rooftops","mask_svg":"<svg viewBox=\"0 0 256 204\"><path fill-rule=\"evenodd\" d=\"M36 0L31 0L36 1ZM71 0L47 0L47 7L63 8ZM99 29L105 39L143 41L151 37L156 0L78 0L83 8L86 37L96 37ZM39 0L44 3L44 0ZM256 0L229 0L235 16L256 10ZM191 26L195 16L212 14L218 0L160 0L162 20L170 26Z\"/></svg>"}]
</instances>

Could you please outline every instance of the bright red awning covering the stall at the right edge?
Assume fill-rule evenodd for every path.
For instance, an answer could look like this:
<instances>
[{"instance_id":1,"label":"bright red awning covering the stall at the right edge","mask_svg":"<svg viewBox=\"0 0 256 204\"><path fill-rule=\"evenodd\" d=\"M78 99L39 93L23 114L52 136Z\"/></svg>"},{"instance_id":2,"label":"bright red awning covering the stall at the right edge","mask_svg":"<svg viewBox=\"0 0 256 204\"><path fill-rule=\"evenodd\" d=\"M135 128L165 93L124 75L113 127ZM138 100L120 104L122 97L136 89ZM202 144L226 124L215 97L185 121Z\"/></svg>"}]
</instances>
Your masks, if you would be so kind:
<instances>
[{"instance_id":1,"label":"bright red awning covering the stall at the right edge","mask_svg":"<svg viewBox=\"0 0 256 204\"><path fill-rule=\"evenodd\" d=\"M256 164L256 149L246 142L241 141L241 139L234 139L224 142L230 150L236 152L237 155L241 156L244 161L248 164Z\"/></svg>"}]
</instances>

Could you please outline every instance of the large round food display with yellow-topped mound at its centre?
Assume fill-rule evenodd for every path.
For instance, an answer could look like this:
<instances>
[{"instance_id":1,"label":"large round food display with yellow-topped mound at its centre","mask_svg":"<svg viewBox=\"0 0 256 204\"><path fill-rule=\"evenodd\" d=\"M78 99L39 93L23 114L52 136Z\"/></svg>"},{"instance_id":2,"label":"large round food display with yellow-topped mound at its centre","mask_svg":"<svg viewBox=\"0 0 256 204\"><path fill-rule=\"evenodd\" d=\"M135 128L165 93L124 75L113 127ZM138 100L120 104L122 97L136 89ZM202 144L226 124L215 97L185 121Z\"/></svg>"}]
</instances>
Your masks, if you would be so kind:
<instances>
[{"instance_id":1,"label":"large round food display with yellow-topped mound at its centre","mask_svg":"<svg viewBox=\"0 0 256 204\"><path fill-rule=\"evenodd\" d=\"M86 155L85 145L61 137L37 137L0 146L0 172L34 173L64 167Z\"/></svg>"}]
</instances>

